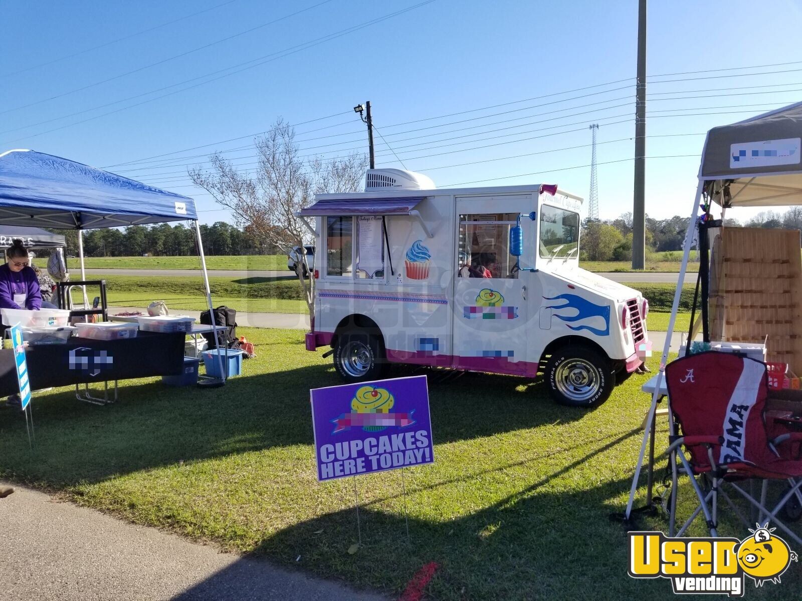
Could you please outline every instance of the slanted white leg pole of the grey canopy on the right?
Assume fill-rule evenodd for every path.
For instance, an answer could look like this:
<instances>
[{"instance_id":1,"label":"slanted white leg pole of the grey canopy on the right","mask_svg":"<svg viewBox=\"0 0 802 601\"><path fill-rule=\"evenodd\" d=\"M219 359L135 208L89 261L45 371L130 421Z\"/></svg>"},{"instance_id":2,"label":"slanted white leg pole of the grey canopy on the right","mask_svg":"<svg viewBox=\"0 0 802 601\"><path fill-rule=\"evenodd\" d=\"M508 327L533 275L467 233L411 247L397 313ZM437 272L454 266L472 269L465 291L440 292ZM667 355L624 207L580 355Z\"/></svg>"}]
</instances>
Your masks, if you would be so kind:
<instances>
[{"instance_id":1,"label":"slanted white leg pole of the grey canopy on the right","mask_svg":"<svg viewBox=\"0 0 802 601\"><path fill-rule=\"evenodd\" d=\"M683 283L685 281L685 272L688 268L688 257L691 256L691 244L693 243L693 229L696 227L696 214L699 212L699 201L702 199L703 181L699 181L699 186L696 188L696 199L694 201L694 209L691 212L691 222L688 224L688 231L685 234L685 248L683 249L683 264L679 268L679 278L677 280L677 289L674 291L674 304L671 305L671 317L668 321L668 329L666 331L666 343L662 348L662 358L660 359L660 369L658 370L657 377L654 380L654 392L652 393L652 401L649 407L649 414L646 417L646 429L643 431L643 440L641 442L641 452L638 456L638 465L635 466L635 474L632 478L632 486L630 486L630 498L626 502L626 512L624 517L629 520L632 514L632 506L635 502L635 494L638 491L638 480L641 477L641 469L643 467L643 458L646 456L646 445L649 442L649 435L651 431L652 421L654 419L654 411L657 409L657 400L660 397L660 385L662 384L663 373L666 371L666 362L668 361L668 353L671 349L671 334L674 333L674 323L677 321L677 310L679 309L679 298L683 293ZM671 417L671 401L667 399L668 405L668 430L671 436L674 435L674 420ZM674 494L677 490L677 464L676 457L671 454L671 496L674 501ZM673 530L673 528L670 528Z\"/></svg>"}]
</instances>

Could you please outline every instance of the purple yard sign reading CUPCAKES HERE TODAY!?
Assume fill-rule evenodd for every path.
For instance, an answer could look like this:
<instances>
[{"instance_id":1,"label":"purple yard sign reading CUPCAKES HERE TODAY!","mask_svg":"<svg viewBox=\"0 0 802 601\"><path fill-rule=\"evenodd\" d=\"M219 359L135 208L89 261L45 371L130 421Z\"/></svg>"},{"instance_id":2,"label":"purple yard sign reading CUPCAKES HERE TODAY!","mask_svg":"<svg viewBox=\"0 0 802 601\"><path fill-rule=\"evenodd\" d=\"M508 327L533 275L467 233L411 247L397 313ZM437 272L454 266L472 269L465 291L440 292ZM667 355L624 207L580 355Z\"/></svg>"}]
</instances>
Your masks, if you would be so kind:
<instances>
[{"instance_id":1,"label":"purple yard sign reading CUPCAKES HERE TODAY!","mask_svg":"<svg viewBox=\"0 0 802 601\"><path fill-rule=\"evenodd\" d=\"M319 481L435 461L426 376L310 393Z\"/></svg>"}]
</instances>

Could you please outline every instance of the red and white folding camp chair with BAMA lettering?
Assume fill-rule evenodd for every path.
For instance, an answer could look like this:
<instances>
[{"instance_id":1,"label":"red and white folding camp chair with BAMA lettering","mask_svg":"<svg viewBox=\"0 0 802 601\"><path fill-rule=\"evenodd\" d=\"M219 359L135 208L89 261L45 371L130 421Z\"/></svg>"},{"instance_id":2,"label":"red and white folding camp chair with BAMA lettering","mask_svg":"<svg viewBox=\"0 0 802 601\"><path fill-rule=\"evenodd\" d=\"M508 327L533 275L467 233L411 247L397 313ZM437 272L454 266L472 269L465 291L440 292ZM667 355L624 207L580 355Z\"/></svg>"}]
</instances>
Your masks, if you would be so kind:
<instances>
[{"instance_id":1,"label":"red and white folding camp chair with BAMA lettering","mask_svg":"<svg viewBox=\"0 0 802 601\"><path fill-rule=\"evenodd\" d=\"M727 490L735 490L758 510L758 521L774 522L802 545L802 538L777 517L792 498L802 501L802 458L794 446L802 441L802 432L768 438L766 365L730 353L699 353L667 365L666 385L671 412L682 432L670 441L669 453L676 451L699 498L699 506L677 536L683 535L700 512L711 536L718 536L719 497L747 526L754 526L754 520L743 518L727 494ZM763 481L759 498L741 486L749 478ZM786 481L789 488L770 509L766 496L772 480ZM676 506L673 502L670 507L672 523Z\"/></svg>"}]
</instances>

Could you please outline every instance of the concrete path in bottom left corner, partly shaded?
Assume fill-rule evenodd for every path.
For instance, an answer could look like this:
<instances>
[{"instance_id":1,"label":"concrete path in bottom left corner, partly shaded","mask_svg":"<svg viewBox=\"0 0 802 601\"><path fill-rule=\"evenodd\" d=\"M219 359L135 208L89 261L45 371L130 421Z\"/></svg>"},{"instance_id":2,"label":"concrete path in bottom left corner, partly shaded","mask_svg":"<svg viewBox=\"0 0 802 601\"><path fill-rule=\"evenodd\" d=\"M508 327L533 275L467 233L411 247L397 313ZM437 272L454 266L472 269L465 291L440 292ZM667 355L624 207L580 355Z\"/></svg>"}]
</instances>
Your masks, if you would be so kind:
<instances>
[{"instance_id":1,"label":"concrete path in bottom left corner, partly shaded","mask_svg":"<svg viewBox=\"0 0 802 601\"><path fill-rule=\"evenodd\" d=\"M15 488L0 499L3 601L386 601Z\"/></svg>"}]
</instances>

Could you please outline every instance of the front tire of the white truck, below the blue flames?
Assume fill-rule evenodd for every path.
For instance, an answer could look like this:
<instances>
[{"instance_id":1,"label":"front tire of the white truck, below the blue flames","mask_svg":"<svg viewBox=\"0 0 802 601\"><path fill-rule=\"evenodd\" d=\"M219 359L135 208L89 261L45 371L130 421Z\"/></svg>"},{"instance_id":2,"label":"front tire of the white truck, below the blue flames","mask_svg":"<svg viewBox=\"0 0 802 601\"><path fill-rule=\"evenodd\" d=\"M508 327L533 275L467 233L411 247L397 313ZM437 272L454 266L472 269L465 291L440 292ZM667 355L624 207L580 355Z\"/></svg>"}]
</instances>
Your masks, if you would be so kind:
<instances>
[{"instance_id":1,"label":"front tire of the white truck, below the blue flames","mask_svg":"<svg viewBox=\"0 0 802 601\"><path fill-rule=\"evenodd\" d=\"M615 373L610 360L580 345L557 349L545 369L546 385L552 398L561 405L592 407L610 397Z\"/></svg>"}]
</instances>

